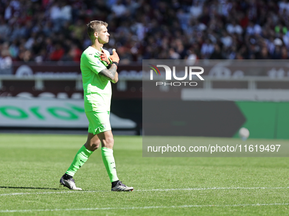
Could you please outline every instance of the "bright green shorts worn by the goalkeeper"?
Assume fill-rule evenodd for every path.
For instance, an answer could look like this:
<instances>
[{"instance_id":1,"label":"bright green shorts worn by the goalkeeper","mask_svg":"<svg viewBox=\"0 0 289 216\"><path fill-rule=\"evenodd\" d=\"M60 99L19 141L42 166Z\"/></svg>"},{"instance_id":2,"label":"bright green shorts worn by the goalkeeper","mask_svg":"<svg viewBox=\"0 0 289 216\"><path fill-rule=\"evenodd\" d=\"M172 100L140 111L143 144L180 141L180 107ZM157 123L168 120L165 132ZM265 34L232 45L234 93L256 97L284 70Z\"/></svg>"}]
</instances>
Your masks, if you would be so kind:
<instances>
[{"instance_id":1,"label":"bright green shorts worn by the goalkeeper","mask_svg":"<svg viewBox=\"0 0 289 216\"><path fill-rule=\"evenodd\" d=\"M86 116L89 119L89 133L95 135L111 130L110 111L104 113L87 112Z\"/></svg>"}]
</instances>

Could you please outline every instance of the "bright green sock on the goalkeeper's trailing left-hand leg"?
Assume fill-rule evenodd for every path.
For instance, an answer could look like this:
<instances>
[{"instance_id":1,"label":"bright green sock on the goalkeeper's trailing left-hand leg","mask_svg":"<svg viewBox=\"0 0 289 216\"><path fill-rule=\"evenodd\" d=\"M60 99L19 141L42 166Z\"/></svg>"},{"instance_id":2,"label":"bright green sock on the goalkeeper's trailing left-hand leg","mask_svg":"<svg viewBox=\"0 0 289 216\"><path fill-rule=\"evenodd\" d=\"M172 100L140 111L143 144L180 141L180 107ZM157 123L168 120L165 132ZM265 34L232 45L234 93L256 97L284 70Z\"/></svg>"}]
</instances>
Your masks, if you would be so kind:
<instances>
[{"instance_id":1,"label":"bright green sock on the goalkeeper's trailing left-hand leg","mask_svg":"<svg viewBox=\"0 0 289 216\"><path fill-rule=\"evenodd\" d=\"M69 176L74 176L76 171L82 167L82 165L88 160L89 156L92 154L92 151L89 151L84 145L79 149L76 156L74 157L70 167L66 171L66 174Z\"/></svg>"}]
</instances>

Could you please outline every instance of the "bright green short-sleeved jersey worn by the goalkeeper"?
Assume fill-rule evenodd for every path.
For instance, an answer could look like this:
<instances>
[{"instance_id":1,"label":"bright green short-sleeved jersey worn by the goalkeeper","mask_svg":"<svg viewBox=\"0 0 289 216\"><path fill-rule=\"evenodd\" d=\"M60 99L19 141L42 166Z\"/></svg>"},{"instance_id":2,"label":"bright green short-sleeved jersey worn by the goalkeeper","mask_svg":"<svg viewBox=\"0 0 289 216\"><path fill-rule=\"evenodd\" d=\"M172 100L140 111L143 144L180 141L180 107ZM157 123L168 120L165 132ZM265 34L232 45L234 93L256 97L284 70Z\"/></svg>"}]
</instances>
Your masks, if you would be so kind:
<instances>
[{"instance_id":1,"label":"bright green short-sleeved jersey worn by the goalkeeper","mask_svg":"<svg viewBox=\"0 0 289 216\"><path fill-rule=\"evenodd\" d=\"M104 50L110 57L110 53ZM101 52L89 46L81 55L80 69L84 90L85 112L107 112L111 109L111 81L99 76L108 64L100 59Z\"/></svg>"}]
</instances>

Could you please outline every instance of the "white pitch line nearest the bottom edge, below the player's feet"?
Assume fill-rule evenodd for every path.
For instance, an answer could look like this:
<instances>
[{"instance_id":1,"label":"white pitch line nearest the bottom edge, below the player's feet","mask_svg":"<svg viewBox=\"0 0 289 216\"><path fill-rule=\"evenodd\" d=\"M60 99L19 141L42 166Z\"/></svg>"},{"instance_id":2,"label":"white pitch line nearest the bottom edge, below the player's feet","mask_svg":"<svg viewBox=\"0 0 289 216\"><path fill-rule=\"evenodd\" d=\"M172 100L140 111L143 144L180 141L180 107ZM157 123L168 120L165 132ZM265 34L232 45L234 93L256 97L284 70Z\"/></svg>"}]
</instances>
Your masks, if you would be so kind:
<instances>
[{"instance_id":1,"label":"white pitch line nearest the bottom edge, below the player's feet","mask_svg":"<svg viewBox=\"0 0 289 216\"><path fill-rule=\"evenodd\" d=\"M144 206L125 208L81 208L81 209L23 209L23 210L0 210L0 213L14 212L59 212L59 211L96 211L96 210L131 210L131 209L164 209L164 208L198 208L198 207L243 207L243 206L273 206L289 205L289 203L265 203L265 204L235 204L235 205L181 205L181 206Z\"/></svg>"}]
</instances>

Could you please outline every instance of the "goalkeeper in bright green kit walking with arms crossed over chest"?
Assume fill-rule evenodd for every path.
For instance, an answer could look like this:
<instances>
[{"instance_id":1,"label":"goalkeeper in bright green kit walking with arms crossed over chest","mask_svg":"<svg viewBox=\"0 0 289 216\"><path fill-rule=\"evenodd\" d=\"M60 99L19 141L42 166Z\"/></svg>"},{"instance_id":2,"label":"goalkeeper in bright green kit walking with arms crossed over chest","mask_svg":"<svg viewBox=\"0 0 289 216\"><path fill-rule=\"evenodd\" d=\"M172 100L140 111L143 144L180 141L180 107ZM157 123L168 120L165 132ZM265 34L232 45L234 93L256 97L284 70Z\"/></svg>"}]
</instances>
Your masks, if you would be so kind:
<instances>
[{"instance_id":1,"label":"goalkeeper in bright green kit walking with arms crossed over chest","mask_svg":"<svg viewBox=\"0 0 289 216\"><path fill-rule=\"evenodd\" d=\"M113 157L110 124L111 82L118 81L116 69L119 57L114 49L111 56L103 49L103 44L109 42L110 34L107 26L108 23L97 20L89 22L87 26L91 46L81 56L80 69L89 133L87 142L79 149L65 175L60 179L60 186L63 185L71 190L82 190L76 187L72 177L101 144L101 155L111 180L111 191L133 191L133 187L128 187L119 181Z\"/></svg>"}]
</instances>

